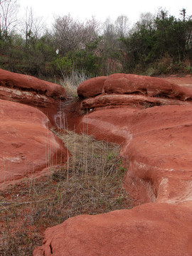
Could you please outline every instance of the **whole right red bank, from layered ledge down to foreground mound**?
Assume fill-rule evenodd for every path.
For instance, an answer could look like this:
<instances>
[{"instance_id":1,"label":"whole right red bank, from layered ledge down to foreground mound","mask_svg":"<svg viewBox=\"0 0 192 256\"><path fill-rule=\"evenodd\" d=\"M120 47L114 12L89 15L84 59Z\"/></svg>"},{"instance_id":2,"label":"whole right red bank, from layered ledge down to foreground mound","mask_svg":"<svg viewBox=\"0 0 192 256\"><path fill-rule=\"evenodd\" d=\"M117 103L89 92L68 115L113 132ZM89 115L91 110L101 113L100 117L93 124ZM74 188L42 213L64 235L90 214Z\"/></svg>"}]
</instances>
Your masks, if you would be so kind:
<instances>
[{"instance_id":1,"label":"whole right red bank, from layered ledge down to foreground mound","mask_svg":"<svg viewBox=\"0 0 192 256\"><path fill-rule=\"evenodd\" d=\"M97 90L97 79L90 92L89 80L78 88L90 98L82 101L88 111L76 129L122 144L124 186L142 205L48 228L33 255L192 255L191 88L114 74ZM106 106L109 96L116 100Z\"/></svg>"}]
</instances>

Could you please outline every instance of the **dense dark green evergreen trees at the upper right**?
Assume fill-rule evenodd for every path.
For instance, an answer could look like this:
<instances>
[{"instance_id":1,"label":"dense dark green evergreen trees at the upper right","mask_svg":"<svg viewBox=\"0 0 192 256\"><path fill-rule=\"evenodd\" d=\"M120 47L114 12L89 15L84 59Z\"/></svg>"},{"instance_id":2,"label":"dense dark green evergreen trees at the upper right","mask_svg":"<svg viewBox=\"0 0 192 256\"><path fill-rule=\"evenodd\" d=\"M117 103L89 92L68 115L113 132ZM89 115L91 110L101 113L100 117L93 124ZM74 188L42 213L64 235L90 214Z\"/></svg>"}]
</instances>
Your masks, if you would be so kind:
<instances>
[{"instance_id":1,"label":"dense dark green evergreen trees at the upper right","mask_svg":"<svg viewBox=\"0 0 192 256\"><path fill-rule=\"evenodd\" d=\"M170 65L162 60L171 58L171 65L176 64L178 70L186 58L191 61L192 26L191 18L176 19L169 16L167 11L161 10L150 25L137 23L137 31L130 33L127 38L121 38L124 45L125 58L124 70L135 72L139 67L141 70L148 70L151 63L161 60L158 65L158 73L169 73ZM180 67L180 68L179 68ZM176 70L175 70L176 71Z\"/></svg>"}]
</instances>

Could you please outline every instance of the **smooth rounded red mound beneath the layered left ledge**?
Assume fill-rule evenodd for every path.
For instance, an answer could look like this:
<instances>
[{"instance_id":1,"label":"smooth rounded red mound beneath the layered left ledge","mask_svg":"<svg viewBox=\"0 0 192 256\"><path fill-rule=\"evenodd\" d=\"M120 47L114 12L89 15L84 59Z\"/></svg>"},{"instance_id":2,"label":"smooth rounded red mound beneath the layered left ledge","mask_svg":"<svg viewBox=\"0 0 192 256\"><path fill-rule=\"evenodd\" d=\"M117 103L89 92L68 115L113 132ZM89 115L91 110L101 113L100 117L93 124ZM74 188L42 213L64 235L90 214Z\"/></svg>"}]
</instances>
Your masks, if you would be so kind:
<instances>
[{"instance_id":1,"label":"smooth rounded red mound beneath the layered left ledge","mask_svg":"<svg viewBox=\"0 0 192 256\"><path fill-rule=\"evenodd\" d=\"M0 189L63 163L66 149L34 107L0 100Z\"/></svg>"}]
</instances>

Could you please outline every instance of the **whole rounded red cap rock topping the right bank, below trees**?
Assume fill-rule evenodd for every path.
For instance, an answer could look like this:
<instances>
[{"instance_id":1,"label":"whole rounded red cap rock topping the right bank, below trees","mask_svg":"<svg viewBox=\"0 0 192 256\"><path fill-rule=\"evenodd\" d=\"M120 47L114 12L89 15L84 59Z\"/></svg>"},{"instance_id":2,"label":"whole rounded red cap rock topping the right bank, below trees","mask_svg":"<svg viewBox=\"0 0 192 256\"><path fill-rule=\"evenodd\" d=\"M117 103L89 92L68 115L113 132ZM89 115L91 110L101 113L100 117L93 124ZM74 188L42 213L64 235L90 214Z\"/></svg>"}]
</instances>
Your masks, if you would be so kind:
<instances>
[{"instance_id":1,"label":"whole rounded red cap rock topping the right bank, below trees","mask_svg":"<svg viewBox=\"0 0 192 256\"><path fill-rule=\"evenodd\" d=\"M192 89L180 87L161 78L117 73L108 77L86 80L78 87L80 97L107 94L139 94L149 97L170 97L178 100L192 99Z\"/></svg>"}]
</instances>

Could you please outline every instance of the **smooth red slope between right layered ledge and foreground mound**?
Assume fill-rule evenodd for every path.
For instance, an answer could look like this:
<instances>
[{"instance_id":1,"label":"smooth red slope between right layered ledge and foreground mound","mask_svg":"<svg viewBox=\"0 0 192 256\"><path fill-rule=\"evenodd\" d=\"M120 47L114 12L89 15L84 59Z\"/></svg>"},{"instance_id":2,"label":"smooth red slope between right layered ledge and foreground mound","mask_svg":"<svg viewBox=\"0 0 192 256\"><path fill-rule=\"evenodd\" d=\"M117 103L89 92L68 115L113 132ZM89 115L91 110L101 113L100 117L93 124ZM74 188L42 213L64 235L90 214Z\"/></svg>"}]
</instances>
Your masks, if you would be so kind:
<instances>
[{"instance_id":1,"label":"smooth red slope between right layered ledge and foreground mound","mask_svg":"<svg viewBox=\"0 0 192 256\"><path fill-rule=\"evenodd\" d=\"M134 198L174 203L192 196L191 118L192 105L117 108L86 115L79 129L86 124L97 139L123 143L121 155L129 159L125 186Z\"/></svg>"}]
</instances>

